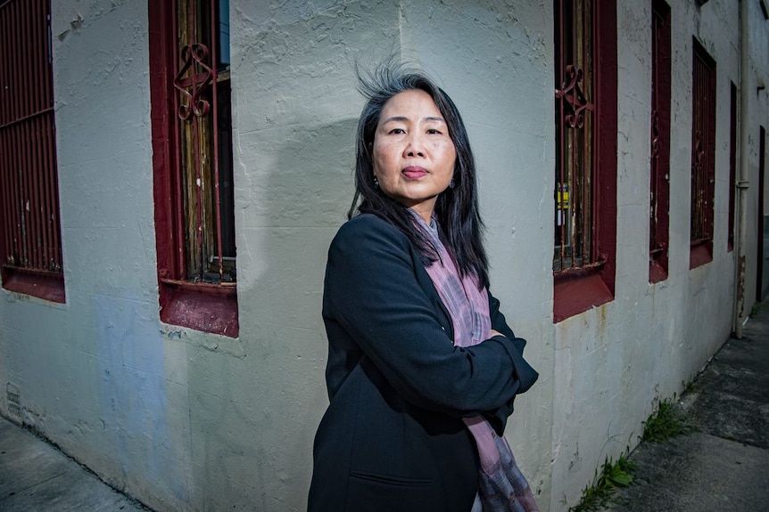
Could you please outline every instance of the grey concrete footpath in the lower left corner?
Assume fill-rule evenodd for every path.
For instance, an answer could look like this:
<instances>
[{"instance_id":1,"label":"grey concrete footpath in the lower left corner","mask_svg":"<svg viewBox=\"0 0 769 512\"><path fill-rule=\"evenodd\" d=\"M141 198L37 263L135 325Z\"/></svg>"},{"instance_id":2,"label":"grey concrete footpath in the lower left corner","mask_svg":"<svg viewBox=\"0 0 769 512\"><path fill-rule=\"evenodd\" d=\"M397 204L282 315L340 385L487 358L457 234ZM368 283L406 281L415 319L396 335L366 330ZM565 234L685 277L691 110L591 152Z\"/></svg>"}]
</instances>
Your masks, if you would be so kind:
<instances>
[{"instance_id":1,"label":"grey concrete footpath in the lower left corner","mask_svg":"<svg viewBox=\"0 0 769 512\"><path fill-rule=\"evenodd\" d=\"M51 444L0 418L0 511L147 511Z\"/></svg>"}]
</instances>

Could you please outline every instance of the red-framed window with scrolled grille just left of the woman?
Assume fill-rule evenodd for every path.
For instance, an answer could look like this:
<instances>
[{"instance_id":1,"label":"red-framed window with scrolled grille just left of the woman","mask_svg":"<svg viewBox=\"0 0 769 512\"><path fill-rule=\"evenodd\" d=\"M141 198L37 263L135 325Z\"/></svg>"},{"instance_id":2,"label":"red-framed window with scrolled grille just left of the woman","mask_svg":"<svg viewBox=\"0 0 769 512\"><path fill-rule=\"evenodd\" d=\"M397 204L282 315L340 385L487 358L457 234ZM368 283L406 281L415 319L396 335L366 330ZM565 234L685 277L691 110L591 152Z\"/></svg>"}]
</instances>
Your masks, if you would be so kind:
<instances>
[{"instance_id":1,"label":"red-framed window with scrolled grille just left of the woman","mask_svg":"<svg viewBox=\"0 0 769 512\"><path fill-rule=\"evenodd\" d=\"M161 320L236 337L227 0L148 4Z\"/></svg>"}]
</instances>

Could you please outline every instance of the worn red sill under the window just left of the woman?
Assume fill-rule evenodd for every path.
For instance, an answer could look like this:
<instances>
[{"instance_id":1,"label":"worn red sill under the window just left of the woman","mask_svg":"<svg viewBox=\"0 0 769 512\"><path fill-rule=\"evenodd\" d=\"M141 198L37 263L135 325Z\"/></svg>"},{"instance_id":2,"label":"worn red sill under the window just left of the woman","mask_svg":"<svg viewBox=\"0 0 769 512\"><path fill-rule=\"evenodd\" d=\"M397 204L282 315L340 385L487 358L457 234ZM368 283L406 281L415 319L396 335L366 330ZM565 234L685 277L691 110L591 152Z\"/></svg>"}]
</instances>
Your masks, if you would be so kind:
<instances>
[{"instance_id":1,"label":"worn red sill under the window just left of the woman","mask_svg":"<svg viewBox=\"0 0 769 512\"><path fill-rule=\"evenodd\" d=\"M189 329L237 337L237 289L161 280L161 321Z\"/></svg>"}]
</instances>

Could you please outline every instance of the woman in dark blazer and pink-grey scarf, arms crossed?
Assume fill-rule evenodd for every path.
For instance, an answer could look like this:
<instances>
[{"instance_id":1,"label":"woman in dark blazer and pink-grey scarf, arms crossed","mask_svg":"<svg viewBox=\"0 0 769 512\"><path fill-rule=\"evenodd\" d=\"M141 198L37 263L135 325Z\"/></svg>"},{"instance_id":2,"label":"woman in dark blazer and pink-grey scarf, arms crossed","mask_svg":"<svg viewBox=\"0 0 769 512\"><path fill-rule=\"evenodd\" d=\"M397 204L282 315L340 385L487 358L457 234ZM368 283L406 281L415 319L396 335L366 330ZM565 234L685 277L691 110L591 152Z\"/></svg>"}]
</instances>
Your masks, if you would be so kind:
<instances>
[{"instance_id":1,"label":"woman in dark blazer and pink-grey scarf, arms crossed","mask_svg":"<svg viewBox=\"0 0 769 512\"><path fill-rule=\"evenodd\" d=\"M309 509L535 509L499 436L537 373L487 291L459 111L400 67L381 66L360 90L351 220L328 253L330 405Z\"/></svg>"}]
</instances>

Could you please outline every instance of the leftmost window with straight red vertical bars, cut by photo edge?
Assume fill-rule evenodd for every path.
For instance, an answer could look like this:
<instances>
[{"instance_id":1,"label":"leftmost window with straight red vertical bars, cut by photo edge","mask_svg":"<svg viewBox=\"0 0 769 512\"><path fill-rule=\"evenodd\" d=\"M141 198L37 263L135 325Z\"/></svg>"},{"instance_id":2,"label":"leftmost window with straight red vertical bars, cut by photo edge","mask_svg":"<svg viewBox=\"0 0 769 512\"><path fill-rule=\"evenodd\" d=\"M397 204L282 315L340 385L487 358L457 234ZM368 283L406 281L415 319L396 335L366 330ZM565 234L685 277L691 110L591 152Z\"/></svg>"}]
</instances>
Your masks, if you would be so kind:
<instances>
[{"instance_id":1,"label":"leftmost window with straight red vertical bars, cut by photo edge","mask_svg":"<svg viewBox=\"0 0 769 512\"><path fill-rule=\"evenodd\" d=\"M0 274L64 302L49 0L0 1Z\"/></svg>"}]
</instances>

